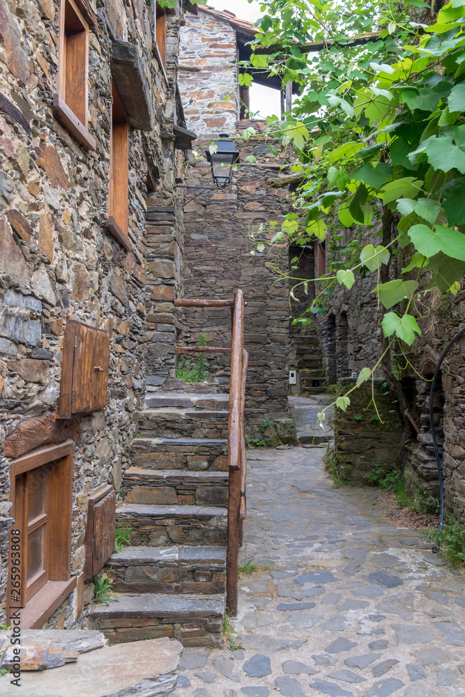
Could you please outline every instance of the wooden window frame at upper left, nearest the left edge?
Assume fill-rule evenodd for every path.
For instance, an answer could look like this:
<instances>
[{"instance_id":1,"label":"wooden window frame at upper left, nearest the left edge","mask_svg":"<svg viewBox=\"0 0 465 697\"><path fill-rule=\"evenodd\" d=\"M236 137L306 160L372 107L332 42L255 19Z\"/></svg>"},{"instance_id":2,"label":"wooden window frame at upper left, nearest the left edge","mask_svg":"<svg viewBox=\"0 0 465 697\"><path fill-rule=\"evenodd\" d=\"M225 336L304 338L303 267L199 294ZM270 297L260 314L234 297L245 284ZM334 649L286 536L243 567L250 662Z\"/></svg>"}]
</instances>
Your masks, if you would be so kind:
<instances>
[{"instance_id":1,"label":"wooden window frame at upper left, nearest the left edge","mask_svg":"<svg viewBox=\"0 0 465 697\"><path fill-rule=\"evenodd\" d=\"M70 13L75 26L82 29L70 28ZM77 43L77 35L82 35ZM74 37L74 38L72 38ZM68 54L80 54L78 60L69 61ZM84 62L84 75L75 75L79 63ZM79 109L73 109L75 86L77 79L80 84ZM72 94L67 93L70 92ZM78 90L79 92L79 90ZM89 150L96 150L96 139L88 130L89 125L89 24L86 22L75 0L61 0L59 13L59 65L58 65L58 94L54 94L53 105L59 121L78 143Z\"/></svg>"}]
</instances>

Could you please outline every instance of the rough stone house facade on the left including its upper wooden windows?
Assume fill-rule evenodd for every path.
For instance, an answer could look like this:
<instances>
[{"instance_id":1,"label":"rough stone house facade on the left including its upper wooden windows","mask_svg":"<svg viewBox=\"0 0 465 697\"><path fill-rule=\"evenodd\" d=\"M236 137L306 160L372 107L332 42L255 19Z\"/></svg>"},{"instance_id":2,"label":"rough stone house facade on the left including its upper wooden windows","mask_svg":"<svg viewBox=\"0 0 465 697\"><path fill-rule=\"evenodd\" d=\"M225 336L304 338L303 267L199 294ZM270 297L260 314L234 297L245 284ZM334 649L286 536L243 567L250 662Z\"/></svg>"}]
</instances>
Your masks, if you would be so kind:
<instances>
[{"instance_id":1,"label":"rough stone house facade on the left including its upper wooden windows","mask_svg":"<svg viewBox=\"0 0 465 697\"><path fill-rule=\"evenodd\" d=\"M140 0L0 0L1 623L11 473L19 471L12 462L31 448L45 452L74 441L69 510L63 498L69 578L58 590L47 585L47 610L33 621L82 626L93 597L83 575L89 496L104 485L119 491L144 381L174 373L182 247L174 187L179 138L186 135L176 99L183 22L182 6L165 12ZM70 108L73 79L82 103ZM126 121L125 153L116 134ZM125 158L122 165L116 153ZM120 167L127 177L119 177ZM115 225L124 200L127 217ZM95 369L108 371L108 394L104 408L58 419L70 320L86 325L83 332L105 332L108 365ZM73 400L81 389L73 384ZM50 457L54 452L61 451L52 448ZM47 461L46 452L40 457ZM45 564L34 547L34 525L40 523L27 533L31 572Z\"/></svg>"}]
</instances>

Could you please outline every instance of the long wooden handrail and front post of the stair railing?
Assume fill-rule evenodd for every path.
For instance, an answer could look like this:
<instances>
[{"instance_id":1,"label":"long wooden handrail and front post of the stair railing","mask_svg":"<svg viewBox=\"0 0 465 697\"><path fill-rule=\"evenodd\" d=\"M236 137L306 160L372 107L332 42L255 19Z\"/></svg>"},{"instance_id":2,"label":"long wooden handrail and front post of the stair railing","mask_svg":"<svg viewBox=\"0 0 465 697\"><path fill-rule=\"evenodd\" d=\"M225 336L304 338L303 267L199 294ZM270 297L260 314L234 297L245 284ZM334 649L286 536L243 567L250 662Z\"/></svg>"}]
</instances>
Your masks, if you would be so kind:
<instances>
[{"instance_id":1,"label":"long wooden handrail and front post of the stair railing","mask_svg":"<svg viewBox=\"0 0 465 697\"><path fill-rule=\"evenodd\" d=\"M234 295L232 309L231 340L231 386L229 388L229 434L228 434L228 521L226 552L226 606L230 615L237 614L238 602L238 559L241 509L241 474L243 465L242 441L243 413L241 397L243 392L243 351L244 351L244 294L240 289Z\"/></svg>"}]
</instances>

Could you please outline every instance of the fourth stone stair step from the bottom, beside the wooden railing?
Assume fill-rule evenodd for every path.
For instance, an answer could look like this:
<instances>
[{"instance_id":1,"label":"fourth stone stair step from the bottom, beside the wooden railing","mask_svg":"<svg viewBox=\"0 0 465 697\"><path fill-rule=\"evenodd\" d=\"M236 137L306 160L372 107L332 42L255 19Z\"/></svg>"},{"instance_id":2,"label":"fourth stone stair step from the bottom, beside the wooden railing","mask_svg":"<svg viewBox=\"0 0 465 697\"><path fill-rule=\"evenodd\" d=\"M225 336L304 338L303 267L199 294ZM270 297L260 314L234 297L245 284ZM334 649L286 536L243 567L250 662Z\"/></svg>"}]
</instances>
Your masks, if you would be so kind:
<instances>
[{"instance_id":1,"label":"fourth stone stair step from the bottom, beside the wooden railing","mask_svg":"<svg viewBox=\"0 0 465 697\"><path fill-rule=\"evenodd\" d=\"M130 467L123 477L125 503L225 506L227 472L176 472Z\"/></svg>"}]
</instances>

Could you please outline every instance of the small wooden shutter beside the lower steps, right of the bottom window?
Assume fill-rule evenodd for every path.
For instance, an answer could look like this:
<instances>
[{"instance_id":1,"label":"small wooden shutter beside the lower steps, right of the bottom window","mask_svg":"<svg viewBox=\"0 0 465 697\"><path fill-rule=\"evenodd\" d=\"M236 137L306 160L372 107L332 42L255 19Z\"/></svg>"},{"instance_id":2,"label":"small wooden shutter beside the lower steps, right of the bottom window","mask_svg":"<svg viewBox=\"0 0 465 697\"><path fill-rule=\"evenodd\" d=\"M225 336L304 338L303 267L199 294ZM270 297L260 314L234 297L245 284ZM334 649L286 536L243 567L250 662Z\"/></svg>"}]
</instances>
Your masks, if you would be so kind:
<instances>
[{"instance_id":1,"label":"small wooden shutter beside the lower steps, right of the bottom window","mask_svg":"<svg viewBox=\"0 0 465 697\"><path fill-rule=\"evenodd\" d=\"M116 491L111 484L89 497L86 527L84 576L91 579L114 551L116 532Z\"/></svg>"}]
</instances>

